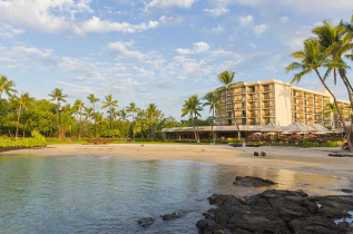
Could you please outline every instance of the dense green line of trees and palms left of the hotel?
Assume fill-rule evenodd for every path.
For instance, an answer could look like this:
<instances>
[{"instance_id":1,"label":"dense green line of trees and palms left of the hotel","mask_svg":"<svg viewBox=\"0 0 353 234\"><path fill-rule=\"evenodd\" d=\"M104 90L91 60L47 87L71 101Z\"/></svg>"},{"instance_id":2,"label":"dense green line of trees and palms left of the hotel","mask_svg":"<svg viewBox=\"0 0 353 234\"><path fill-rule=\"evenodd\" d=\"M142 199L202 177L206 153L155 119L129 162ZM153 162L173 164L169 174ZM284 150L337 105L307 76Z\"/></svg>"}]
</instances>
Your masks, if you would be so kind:
<instances>
[{"instance_id":1,"label":"dense green line of trees and palms left of the hotel","mask_svg":"<svg viewBox=\"0 0 353 234\"><path fill-rule=\"evenodd\" d=\"M190 120L177 121L171 116L166 117L155 104L141 109L130 103L118 109L118 100L112 95L100 100L90 94L86 100L77 99L73 105L67 104L68 96L59 88L48 97L38 100L28 92L19 94L14 82L1 75L0 134L18 139L30 136L36 129L46 137L59 139L109 137L155 140L161 138L163 128L192 126ZM99 101L105 113L97 110ZM210 124L202 119L198 123Z\"/></svg>"}]
</instances>

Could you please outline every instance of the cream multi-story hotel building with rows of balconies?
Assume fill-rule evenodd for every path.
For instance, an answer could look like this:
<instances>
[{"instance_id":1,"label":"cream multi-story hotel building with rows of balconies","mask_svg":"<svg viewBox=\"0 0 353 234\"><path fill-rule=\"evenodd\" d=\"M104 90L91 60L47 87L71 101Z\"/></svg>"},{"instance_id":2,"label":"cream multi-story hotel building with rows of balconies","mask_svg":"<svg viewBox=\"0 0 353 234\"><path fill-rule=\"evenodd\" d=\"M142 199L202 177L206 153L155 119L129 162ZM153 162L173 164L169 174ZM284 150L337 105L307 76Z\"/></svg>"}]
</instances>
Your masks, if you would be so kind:
<instances>
[{"instance_id":1,"label":"cream multi-story hotel building with rows of balconies","mask_svg":"<svg viewBox=\"0 0 353 234\"><path fill-rule=\"evenodd\" d=\"M326 90L310 90L276 79L233 84L227 97L225 87L216 90L222 94L223 106L223 110L216 111L216 126L264 126L269 123L287 126L298 121L341 127L339 116L327 108L333 98ZM339 100L339 105L345 113L345 120L350 121L350 103Z\"/></svg>"}]
</instances>

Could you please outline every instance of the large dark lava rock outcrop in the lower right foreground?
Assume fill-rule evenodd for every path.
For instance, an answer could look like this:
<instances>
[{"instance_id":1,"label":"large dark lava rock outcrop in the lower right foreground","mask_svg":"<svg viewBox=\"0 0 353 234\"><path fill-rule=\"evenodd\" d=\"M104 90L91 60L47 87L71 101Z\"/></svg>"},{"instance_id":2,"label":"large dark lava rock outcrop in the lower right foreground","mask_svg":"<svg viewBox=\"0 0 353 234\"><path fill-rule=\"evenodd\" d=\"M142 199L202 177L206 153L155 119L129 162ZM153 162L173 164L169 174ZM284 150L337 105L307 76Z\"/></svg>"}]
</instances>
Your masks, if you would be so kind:
<instances>
[{"instance_id":1,"label":"large dark lava rock outcrop in the lower right foreground","mask_svg":"<svg viewBox=\"0 0 353 234\"><path fill-rule=\"evenodd\" d=\"M251 197L214 194L217 207L197 222L200 233L346 233L349 225L334 220L349 217L353 196L307 196L304 192L269 189Z\"/></svg>"}]
</instances>

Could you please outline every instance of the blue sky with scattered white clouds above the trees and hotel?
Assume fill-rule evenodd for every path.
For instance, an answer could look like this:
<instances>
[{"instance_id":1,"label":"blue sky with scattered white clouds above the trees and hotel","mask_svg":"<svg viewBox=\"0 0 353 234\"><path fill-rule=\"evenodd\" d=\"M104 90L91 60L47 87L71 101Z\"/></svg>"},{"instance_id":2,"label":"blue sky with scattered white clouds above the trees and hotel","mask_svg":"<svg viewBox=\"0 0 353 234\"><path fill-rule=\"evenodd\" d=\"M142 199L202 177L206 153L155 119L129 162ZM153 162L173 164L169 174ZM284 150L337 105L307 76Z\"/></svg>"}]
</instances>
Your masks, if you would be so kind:
<instances>
[{"instance_id":1,"label":"blue sky with scattered white clouds above the trees and hotel","mask_svg":"<svg viewBox=\"0 0 353 234\"><path fill-rule=\"evenodd\" d=\"M312 28L352 10L352 0L0 0L0 74L36 98L111 94L119 108L155 103L180 119L184 100L219 87L224 70L291 81L285 67ZM323 89L314 75L297 86ZM333 90L347 99L341 82Z\"/></svg>"}]
</instances>

